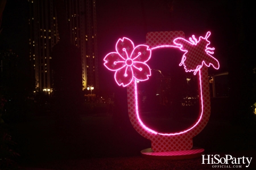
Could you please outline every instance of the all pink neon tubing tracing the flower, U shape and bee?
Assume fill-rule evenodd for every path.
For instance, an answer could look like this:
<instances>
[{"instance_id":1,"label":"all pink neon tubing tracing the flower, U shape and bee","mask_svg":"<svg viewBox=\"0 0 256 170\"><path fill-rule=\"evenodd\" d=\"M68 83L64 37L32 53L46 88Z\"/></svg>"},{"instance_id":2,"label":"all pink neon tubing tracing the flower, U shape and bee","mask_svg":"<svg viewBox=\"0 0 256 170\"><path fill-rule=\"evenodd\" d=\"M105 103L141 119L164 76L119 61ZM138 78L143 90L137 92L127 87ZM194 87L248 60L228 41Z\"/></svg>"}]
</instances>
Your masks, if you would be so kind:
<instances>
[{"instance_id":1,"label":"all pink neon tubing tracing the flower, U shape and bee","mask_svg":"<svg viewBox=\"0 0 256 170\"><path fill-rule=\"evenodd\" d=\"M210 56L210 54L213 54L214 52L210 52L209 50L214 50L214 48L209 48L208 47L208 45L210 44L210 41L208 41L208 37L210 36L210 32L207 32L207 35L205 36L205 37L199 37L199 41L201 40L201 39L205 39L207 42L208 42L208 44L207 44L207 48L205 49L205 52ZM193 38L193 39L192 39ZM185 41L187 41L187 42L189 42L190 44L192 44L192 45L197 45L197 43L199 42L199 41L197 41L197 39L195 38L195 36L194 35L192 35L192 38L191 37L189 37L189 41L187 41L187 40L185 40L185 39L183 39L183 38L176 38L176 39L183 39L183 40L185 40ZM123 39L125 39L125 37L123 38ZM126 38L127 39L127 38ZM175 39L175 40L176 40ZM119 39L119 40L121 40L121 39ZM119 41L118 40L118 41ZM128 39L128 40L130 40L130 39ZM176 45L178 45L178 46L174 46L174 45L160 45L160 46L156 46L156 47L154 47L154 48L151 48L150 49L150 57L148 57L148 59L150 59L151 58L151 50L153 50L153 49L158 49L158 48L179 48L181 51L183 51L183 52L185 52L184 54L183 54L183 57L182 57L182 59L181 59L181 63L179 64L180 66L182 65L182 64L184 64L184 61L185 61L185 54L188 52L188 50L183 50L183 49L181 49L182 47L183 47L183 45L181 45L181 44L177 44L176 42L175 42L175 40L174 40L174 43L176 44ZM123 41L123 40L121 40L121 41ZM131 41L132 42L132 41ZM118 42L117 42L118 43ZM133 42L132 42L133 43ZM139 45L138 45L139 46ZM145 46L147 46L147 45L145 45ZM135 47L135 48L137 48L137 46ZM135 49L134 48L134 49ZM134 49L133 49L133 52L134 52ZM148 46L147 46L147 49L148 49ZM117 50L117 45L116 45L116 50ZM126 49L125 48L123 48L123 51L125 51L126 52ZM133 54L133 52L131 53L131 54ZM111 53L109 53L109 54L111 54ZM107 56L109 55L109 54L107 54ZM115 53L116 54L116 53ZM118 53L119 54L119 53ZM139 55L137 56L137 57L139 57L141 55L141 53L139 53ZM120 55L119 55L120 56ZM128 56L127 55L127 53L126 53L126 56ZM122 57L122 56L120 56L120 57ZM135 57L135 58L137 58L137 57ZM212 57L212 56L210 56L210 57ZM123 57L122 57L123 58ZM131 58L131 57L130 57ZM135 59L134 58L134 59ZM214 57L213 57L214 58ZM147 61L148 61L148 59L147 59ZM216 58L214 58L214 59L216 59ZM124 59L125 60L125 59ZM104 58L104 61L105 61L105 58ZM125 60L126 61L126 60ZM147 62L147 61L144 61L144 62ZM216 61L217 61L217 59L216 59ZM144 63L144 62L141 62L141 63ZM106 62L105 62L106 63ZM105 63L104 63L104 65L105 65ZM135 61L134 61L134 63L136 63ZM138 62L139 63L139 62ZM202 83L201 83L201 67L203 67L203 64L205 64L205 66L207 66L207 67L209 67L210 65L212 65L213 67L214 67L214 69L219 69L219 67L220 67L220 64L219 64L219 62L217 61L217 63L218 63L218 67L216 68L216 67L214 67L214 65L212 64L212 63L209 63L209 65L207 65L206 63L205 63L205 61L203 61L202 62L202 64L200 65L200 66L197 66L196 67L196 69L195 70L190 70L190 71L194 71L194 75L196 75L196 73L197 73L197 71L199 71L199 78L200 78L200 80L199 80L199 82L200 82L200 98L201 98L201 114L200 114L200 117L199 117L199 119L196 121L196 123L194 124L194 125L191 125L190 127L191 128L188 128L188 129L185 129L185 130L183 130L183 131L180 131L180 132L176 132L176 133L158 133L158 132L156 132L155 130L152 130L152 129L150 129L150 128L148 128L146 125L144 125L143 124L143 122L142 122L142 120L141 120L141 118L140 118L140 116L139 116L139 111L138 111L138 94L137 94L137 82L136 81L134 81L134 83L135 83L135 103L136 103L136 114L137 114L137 118L138 118L138 120L139 120L139 123L141 124L141 126L145 129L145 130L147 130L147 131L149 131L150 133L154 133L154 134L159 134L159 135L167 135L167 136L170 136L170 135L179 135L179 134L183 134L183 133L186 133L187 131L189 131L189 130L192 130L193 128L195 128L196 126L197 126L197 124L199 124L199 122L201 121L201 118L203 117L203 113L204 113L204 105L203 105L203 91L202 91ZM146 63L145 63L145 65L146 66L148 66ZM136 69L141 69L141 68L138 68L138 67L136 67L136 66L134 66L134 65L132 65L133 67L135 67ZM123 67L125 67L125 66L123 66ZM121 67L121 69L123 68L123 67ZM107 67L108 68L108 67ZM149 66L148 66L148 68L150 68ZM111 70L111 69L109 69L109 70ZM113 70L113 71L115 71L115 70ZM131 71L133 72L133 69L131 69ZM186 72L190 72L190 71L187 71L187 70L185 70ZM117 73L117 71L115 72L115 74ZM150 73L150 75L151 75L151 73ZM148 76L149 75L147 75L147 79L148 79ZM133 76L133 78L134 79L137 79L137 78L135 78L134 76ZM145 79L145 80L147 80L147 79ZM137 80L139 80L139 79L137 79ZM117 80L115 79L115 81L117 82ZM142 81L142 80L139 80L139 81ZM133 82L133 80L131 81L131 82ZM130 82L130 83L131 83ZM130 84L129 83L129 84ZM123 84L123 83L121 83L121 84ZM121 84L119 85L119 86L121 86ZM128 86L129 84L127 84L126 86ZM125 86L124 86L125 87Z\"/></svg>"}]
</instances>

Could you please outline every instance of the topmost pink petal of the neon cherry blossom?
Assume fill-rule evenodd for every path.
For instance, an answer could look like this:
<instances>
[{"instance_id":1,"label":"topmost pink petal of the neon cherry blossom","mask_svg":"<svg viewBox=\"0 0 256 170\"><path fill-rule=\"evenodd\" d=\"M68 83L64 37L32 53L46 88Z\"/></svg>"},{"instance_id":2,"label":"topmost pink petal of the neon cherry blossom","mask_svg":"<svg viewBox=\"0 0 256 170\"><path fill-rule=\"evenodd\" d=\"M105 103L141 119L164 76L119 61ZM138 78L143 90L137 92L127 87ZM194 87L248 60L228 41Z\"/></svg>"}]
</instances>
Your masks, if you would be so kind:
<instances>
[{"instance_id":1,"label":"topmost pink petal of the neon cherry blossom","mask_svg":"<svg viewBox=\"0 0 256 170\"><path fill-rule=\"evenodd\" d=\"M133 49L133 41L125 37L123 37L123 39L119 39L115 45L115 50L117 50L117 53L125 59L131 56Z\"/></svg>"}]
</instances>

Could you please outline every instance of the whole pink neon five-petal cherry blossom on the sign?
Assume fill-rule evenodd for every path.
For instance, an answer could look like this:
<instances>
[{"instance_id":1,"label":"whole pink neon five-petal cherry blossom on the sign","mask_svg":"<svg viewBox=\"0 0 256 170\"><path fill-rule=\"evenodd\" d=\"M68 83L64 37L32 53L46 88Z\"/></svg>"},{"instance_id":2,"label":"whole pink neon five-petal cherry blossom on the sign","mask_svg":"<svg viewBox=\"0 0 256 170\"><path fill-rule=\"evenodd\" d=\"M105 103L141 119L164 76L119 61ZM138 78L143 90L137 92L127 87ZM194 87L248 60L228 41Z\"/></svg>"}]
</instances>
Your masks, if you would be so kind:
<instances>
[{"instance_id":1,"label":"whole pink neon five-petal cherry blossom on the sign","mask_svg":"<svg viewBox=\"0 0 256 170\"><path fill-rule=\"evenodd\" d=\"M134 78L139 81L148 79L151 71L146 62L151 57L151 49L147 45L134 47L133 41L123 37L117 41L115 50L106 55L104 65L115 71L115 82L119 86L128 86Z\"/></svg>"}]
</instances>

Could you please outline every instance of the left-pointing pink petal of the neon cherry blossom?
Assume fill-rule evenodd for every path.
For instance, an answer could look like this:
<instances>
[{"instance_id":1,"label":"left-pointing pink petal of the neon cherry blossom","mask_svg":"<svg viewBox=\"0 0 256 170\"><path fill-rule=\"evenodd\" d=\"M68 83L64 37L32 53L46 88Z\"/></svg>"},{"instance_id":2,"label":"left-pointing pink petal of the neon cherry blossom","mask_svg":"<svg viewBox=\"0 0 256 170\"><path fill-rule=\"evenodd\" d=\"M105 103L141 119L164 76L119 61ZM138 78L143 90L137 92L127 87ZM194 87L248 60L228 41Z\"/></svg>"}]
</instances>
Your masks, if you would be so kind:
<instances>
[{"instance_id":1,"label":"left-pointing pink petal of the neon cherry blossom","mask_svg":"<svg viewBox=\"0 0 256 170\"><path fill-rule=\"evenodd\" d=\"M125 67L125 61L122 57L119 56L118 53L109 53L104 58L104 65L112 71L116 71L121 69L122 67Z\"/></svg>"}]
</instances>

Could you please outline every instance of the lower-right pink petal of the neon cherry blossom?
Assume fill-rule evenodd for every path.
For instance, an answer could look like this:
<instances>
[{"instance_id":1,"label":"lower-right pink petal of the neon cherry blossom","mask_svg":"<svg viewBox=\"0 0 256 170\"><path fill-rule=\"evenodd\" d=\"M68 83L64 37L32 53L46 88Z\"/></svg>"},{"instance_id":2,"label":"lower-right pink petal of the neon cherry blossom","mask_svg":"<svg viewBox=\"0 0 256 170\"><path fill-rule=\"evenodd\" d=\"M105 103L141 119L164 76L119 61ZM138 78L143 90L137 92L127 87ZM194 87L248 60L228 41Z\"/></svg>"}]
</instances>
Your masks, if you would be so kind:
<instances>
[{"instance_id":1,"label":"lower-right pink petal of the neon cherry blossom","mask_svg":"<svg viewBox=\"0 0 256 170\"><path fill-rule=\"evenodd\" d=\"M139 81L148 79L151 75L150 67L144 62L134 62L133 64L133 76Z\"/></svg>"}]
</instances>

